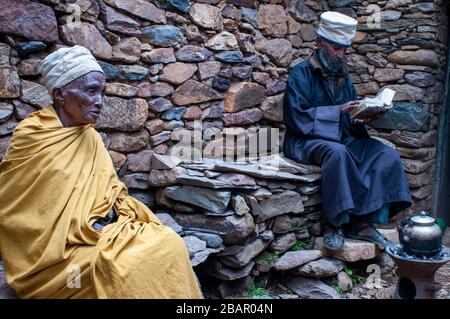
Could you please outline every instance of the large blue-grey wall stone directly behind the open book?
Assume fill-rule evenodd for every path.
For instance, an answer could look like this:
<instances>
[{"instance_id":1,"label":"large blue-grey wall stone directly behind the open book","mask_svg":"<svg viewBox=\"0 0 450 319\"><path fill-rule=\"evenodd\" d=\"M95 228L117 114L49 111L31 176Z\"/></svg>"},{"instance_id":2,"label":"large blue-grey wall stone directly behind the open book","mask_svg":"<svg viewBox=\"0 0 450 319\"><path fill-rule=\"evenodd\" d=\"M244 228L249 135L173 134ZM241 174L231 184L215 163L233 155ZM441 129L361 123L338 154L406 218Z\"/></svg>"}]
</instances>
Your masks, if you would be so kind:
<instances>
[{"instance_id":1,"label":"large blue-grey wall stone directly behind the open book","mask_svg":"<svg viewBox=\"0 0 450 319\"><path fill-rule=\"evenodd\" d=\"M370 123L374 128L408 131L425 131L430 120L429 107L425 104L395 102L386 114Z\"/></svg>"}]
</instances>

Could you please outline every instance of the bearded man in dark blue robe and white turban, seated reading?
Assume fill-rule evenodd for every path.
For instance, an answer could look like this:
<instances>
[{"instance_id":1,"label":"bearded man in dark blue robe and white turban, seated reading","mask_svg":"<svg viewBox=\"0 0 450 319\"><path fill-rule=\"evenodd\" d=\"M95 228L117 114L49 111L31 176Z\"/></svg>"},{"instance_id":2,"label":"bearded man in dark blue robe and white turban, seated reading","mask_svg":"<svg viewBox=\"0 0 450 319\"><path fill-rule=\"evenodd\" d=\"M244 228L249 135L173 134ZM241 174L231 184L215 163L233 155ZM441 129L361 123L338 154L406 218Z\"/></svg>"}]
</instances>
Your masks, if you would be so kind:
<instances>
[{"instance_id":1,"label":"bearded man in dark blue robe and white turban, seated reading","mask_svg":"<svg viewBox=\"0 0 450 319\"><path fill-rule=\"evenodd\" d=\"M284 95L283 152L321 167L324 245L331 250L344 247L344 235L386 245L373 224L411 205L399 154L365 128L375 117L349 115L359 105L345 57L356 27L351 17L323 13L317 49L292 69Z\"/></svg>"}]
</instances>

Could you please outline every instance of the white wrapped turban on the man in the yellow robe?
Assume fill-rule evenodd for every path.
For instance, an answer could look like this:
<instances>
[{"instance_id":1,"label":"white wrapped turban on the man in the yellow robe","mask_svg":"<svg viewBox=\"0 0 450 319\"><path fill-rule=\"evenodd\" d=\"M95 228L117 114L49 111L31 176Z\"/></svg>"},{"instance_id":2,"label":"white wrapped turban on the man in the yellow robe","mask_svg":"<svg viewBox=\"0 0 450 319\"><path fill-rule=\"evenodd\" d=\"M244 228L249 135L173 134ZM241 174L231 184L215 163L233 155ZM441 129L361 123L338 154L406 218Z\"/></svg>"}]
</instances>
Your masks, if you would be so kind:
<instances>
[{"instance_id":1,"label":"white wrapped turban on the man in the yellow robe","mask_svg":"<svg viewBox=\"0 0 450 319\"><path fill-rule=\"evenodd\" d=\"M79 45L53 52L44 59L41 67L45 86L50 94L54 88L63 87L93 71L104 74L91 52Z\"/></svg>"}]
</instances>

